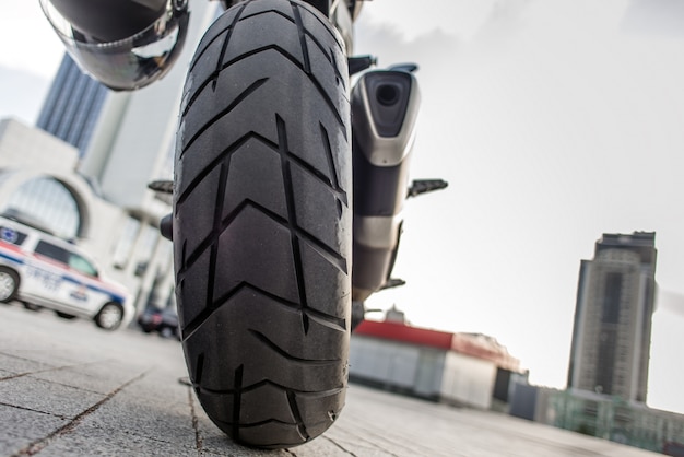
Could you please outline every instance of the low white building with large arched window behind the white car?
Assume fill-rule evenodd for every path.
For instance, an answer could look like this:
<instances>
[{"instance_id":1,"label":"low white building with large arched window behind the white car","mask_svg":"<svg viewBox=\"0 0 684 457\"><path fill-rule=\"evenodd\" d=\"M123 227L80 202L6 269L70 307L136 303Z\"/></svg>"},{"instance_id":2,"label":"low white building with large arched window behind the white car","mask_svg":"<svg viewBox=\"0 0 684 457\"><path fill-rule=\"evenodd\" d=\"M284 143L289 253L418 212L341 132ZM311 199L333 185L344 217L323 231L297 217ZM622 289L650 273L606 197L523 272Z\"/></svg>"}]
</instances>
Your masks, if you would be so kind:
<instances>
[{"instance_id":1,"label":"low white building with large arched window behind the white car","mask_svg":"<svg viewBox=\"0 0 684 457\"><path fill-rule=\"evenodd\" d=\"M141 278L110 261L128 213L75 173L78 159L73 145L17 120L0 119L0 214L78 244L97 260L102 273L135 294Z\"/></svg>"}]
</instances>

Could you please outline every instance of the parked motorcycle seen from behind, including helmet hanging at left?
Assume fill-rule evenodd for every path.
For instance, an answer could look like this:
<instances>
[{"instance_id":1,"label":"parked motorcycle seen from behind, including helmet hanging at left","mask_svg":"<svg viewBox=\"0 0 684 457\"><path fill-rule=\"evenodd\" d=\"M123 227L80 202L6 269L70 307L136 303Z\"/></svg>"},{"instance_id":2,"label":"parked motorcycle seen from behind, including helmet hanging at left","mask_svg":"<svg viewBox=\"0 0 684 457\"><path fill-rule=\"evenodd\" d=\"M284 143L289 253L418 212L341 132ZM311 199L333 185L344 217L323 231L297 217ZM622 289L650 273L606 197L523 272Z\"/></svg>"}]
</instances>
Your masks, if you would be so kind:
<instances>
[{"instance_id":1,"label":"parked motorcycle seen from behind, including helmet hanging at left","mask_svg":"<svg viewBox=\"0 0 684 457\"><path fill-rule=\"evenodd\" d=\"M40 1L113 90L158 80L185 42L185 0ZM404 200L446 183L409 187L416 67L352 55L361 0L222 3L189 66L173 185L151 187L173 191L161 226L202 407L236 442L291 447L342 410L350 333L390 281Z\"/></svg>"}]
</instances>

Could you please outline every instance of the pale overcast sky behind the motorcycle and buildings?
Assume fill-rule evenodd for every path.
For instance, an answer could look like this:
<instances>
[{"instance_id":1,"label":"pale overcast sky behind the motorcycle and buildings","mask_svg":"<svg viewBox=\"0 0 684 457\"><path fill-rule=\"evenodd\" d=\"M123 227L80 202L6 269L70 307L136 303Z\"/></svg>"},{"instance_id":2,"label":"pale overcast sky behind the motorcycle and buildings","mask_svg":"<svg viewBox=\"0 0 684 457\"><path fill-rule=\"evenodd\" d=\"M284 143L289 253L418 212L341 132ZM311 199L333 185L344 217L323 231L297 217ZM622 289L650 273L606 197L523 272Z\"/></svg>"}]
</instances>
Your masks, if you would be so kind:
<instances>
[{"instance_id":1,"label":"pale overcast sky behind the motorcycle and buildings","mask_svg":"<svg viewBox=\"0 0 684 457\"><path fill-rule=\"evenodd\" d=\"M61 48L37 1L8 2L0 116L33 122ZM562 388L580 260L654 231L649 405L684 412L684 2L374 0L356 34L357 54L421 67L412 176L450 184L408 202L408 283L368 306L491 335Z\"/></svg>"}]
</instances>

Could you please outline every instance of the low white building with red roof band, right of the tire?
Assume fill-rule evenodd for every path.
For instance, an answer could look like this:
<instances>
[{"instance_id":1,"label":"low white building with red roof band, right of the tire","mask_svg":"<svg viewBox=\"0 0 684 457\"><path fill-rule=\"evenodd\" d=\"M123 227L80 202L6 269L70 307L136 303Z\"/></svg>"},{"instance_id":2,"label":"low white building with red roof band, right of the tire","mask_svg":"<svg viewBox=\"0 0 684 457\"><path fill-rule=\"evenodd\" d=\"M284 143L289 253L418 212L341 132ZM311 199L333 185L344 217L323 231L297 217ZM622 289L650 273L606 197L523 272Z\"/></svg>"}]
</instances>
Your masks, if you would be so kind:
<instances>
[{"instance_id":1,"label":"low white building with red roof band, right of the tire","mask_svg":"<svg viewBox=\"0 0 684 457\"><path fill-rule=\"evenodd\" d=\"M374 387L479 409L505 409L527 373L494 338L406 325L396 309L352 335L350 378Z\"/></svg>"}]
</instances>

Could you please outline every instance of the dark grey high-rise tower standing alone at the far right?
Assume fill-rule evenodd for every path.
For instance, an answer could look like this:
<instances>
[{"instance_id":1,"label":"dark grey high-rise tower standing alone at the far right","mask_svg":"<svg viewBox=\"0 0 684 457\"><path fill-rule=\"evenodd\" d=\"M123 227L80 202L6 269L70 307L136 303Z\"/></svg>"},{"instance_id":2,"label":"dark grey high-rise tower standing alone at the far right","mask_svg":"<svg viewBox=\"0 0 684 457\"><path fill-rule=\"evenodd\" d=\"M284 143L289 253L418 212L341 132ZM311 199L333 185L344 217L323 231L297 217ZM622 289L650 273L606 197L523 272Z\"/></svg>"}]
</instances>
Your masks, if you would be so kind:
<instances>
[{"instance_id":1,"label":"dark grey high-rise tower standing alone at the far right","mask_svg":"<svg viewBox=\"0 0 684 457\"><path fill-rule=\"evenodd\" d=\"M646 402L656 233L603 234L582 260L568 388Z\"/></svg>"}]
</instances>

